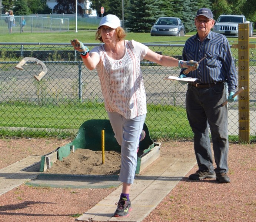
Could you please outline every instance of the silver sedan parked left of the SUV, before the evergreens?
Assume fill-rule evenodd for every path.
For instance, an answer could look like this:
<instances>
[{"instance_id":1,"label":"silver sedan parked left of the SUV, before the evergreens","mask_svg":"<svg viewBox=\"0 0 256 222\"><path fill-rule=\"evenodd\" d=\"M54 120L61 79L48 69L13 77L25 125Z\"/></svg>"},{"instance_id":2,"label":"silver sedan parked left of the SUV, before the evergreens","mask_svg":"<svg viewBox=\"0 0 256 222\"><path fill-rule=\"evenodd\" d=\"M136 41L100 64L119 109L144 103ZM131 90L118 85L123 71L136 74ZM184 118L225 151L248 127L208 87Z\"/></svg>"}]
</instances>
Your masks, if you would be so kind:
<instances>
[{"instance_id":1,"label":"silver sedan parked left of the SUV, before the evergreens","mask_svg":"<svg viewBox=\"0 0 256 222\"><path fill-rule=\"evenodd\" d=\"M151 36L181 36L183 33L186 34L184 24L177 17L160 17L152 25Z\"/></svg>"}]
</instances>

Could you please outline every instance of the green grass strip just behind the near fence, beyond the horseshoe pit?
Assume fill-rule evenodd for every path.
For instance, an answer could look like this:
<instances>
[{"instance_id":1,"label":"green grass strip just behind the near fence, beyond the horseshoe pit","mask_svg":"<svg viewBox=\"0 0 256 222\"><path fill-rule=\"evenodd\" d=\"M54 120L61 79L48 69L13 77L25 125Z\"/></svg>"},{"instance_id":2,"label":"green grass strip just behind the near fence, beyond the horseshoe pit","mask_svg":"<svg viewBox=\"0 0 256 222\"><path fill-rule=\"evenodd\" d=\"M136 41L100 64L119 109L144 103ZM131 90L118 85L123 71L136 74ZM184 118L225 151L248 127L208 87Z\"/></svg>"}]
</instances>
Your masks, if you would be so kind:
<instances>
[{"instance_id":1,"label":"green grass strip just behind the near fence, beyond the horseshoe pit","mask_svg":"<svg viewBox=\"0 0 256 222\"><path fill-rule=\"evenodd\" d=\"M186 110L183 107L148 105L146 123L153 139L192 138ZM51 129L51 136L74 137L70 129L78 129L86 120L95 113L100 113L101 118L108 118L104 104L83 102L82 104L62 105L35 105L24 102L2 102L0 107L0 135L47 137L47 129ZM79 117L79 118L78 118ZM172 124L169 124L172 122ZM21 130L21 128L24 128ZM27 129L26 129L27 128ZM67 129L63 131L53 129Z\"/></svg>"}]
</instances>

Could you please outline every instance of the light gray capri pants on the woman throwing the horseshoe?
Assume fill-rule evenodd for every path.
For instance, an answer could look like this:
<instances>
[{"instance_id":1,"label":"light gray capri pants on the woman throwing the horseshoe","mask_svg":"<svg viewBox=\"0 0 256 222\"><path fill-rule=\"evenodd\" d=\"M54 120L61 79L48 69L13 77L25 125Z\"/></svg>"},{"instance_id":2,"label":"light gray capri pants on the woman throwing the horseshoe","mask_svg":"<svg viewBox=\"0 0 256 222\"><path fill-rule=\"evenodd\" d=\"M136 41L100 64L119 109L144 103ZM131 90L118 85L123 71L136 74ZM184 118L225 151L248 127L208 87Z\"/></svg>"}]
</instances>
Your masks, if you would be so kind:
<instances>
[{"instance_id":1,"label":"light gray capri pants on the woman throwing the horseshoe","mask_svg":"<svg viewBox=\"0 0 256 222\"><path fill-rule=\"evenodd\" d=\"M121 146L121 169L119 181L133 184L136 165L137 148L146 114L127 120L117 112L107 112L115 138Z\"/></svg>"}]
</instances>

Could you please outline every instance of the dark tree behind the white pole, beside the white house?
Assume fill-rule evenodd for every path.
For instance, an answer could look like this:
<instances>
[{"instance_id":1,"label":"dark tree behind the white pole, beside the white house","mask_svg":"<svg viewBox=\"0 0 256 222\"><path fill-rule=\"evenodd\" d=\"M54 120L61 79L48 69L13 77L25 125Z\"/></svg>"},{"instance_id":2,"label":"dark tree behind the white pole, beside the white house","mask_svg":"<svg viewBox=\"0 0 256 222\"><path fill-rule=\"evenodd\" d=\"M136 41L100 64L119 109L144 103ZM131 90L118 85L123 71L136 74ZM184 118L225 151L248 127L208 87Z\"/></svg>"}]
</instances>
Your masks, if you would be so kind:
<instances>
[{"instance_id":1,"label":"dark tree behind the white pole, beside the white house","mask_svg":"<svg viewBox=\"0 0 256 222\"><path fill-rule=\"evenodd\" d=\"M77 13L83 14L84 10L80 4L84 3L84 0L77 0ZM76 1L75 0L57 0L57 5L54 6L54 10L58 14L75 14L76 13Z\"/></svg>"}]
</instances>

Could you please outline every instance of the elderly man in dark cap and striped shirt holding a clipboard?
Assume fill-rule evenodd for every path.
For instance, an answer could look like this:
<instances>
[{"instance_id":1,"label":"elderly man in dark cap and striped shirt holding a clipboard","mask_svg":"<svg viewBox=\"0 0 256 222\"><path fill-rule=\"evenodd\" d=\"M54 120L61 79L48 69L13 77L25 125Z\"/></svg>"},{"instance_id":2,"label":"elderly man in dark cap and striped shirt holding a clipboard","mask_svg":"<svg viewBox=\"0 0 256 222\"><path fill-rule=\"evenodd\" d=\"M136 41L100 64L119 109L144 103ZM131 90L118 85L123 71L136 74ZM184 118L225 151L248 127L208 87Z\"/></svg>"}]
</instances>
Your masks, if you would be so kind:
<instances>
[{"instance_id":1,"label":"elderly man in dark cap and striped shirt holding a clipboard","mask_svg":"<svg viewBox=\"0 0 256 222\"><path fill-rule=\"evenodd\" d=\"M229 91L228 101L237 100L237 97L232 98L237 87L237 74L229 42L222 34L211 31L214 24L210 9L197 11L197 34L186 41L182 55L184 60L199 61L205 55L206 58L197 70L188 72L189 69L182 69L179 77L198 78L188 84L186 94L187 118L194 133L194 149L199 167L189 179L216 178L219 183L229 183L228 112L227 105L222 106L222 103L226 101L225 82ZM209 127L216 168L213 166Z\"/></svg>"}]
</instances>

